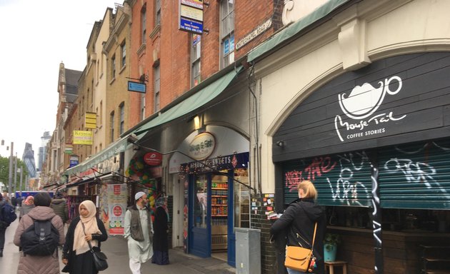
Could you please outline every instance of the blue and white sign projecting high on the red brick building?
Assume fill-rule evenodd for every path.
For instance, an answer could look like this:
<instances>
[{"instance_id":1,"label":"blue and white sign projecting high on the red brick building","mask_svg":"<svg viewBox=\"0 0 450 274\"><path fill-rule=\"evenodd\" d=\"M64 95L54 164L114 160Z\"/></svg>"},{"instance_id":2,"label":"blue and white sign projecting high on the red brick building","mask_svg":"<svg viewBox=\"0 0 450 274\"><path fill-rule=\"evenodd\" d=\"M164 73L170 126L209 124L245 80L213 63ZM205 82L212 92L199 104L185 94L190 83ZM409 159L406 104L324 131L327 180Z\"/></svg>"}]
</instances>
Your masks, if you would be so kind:
<instances>
[{"instance_id":1,"label":"blue and white sign projecting high on the red brick building","mask_svg":"<svg viewBox=\"0 0 450 274\"><path fill-rule=\"evenodd\" d=\"M179 1L179 30L203 34L203 0Z\"/></svg>"}]
</instances>

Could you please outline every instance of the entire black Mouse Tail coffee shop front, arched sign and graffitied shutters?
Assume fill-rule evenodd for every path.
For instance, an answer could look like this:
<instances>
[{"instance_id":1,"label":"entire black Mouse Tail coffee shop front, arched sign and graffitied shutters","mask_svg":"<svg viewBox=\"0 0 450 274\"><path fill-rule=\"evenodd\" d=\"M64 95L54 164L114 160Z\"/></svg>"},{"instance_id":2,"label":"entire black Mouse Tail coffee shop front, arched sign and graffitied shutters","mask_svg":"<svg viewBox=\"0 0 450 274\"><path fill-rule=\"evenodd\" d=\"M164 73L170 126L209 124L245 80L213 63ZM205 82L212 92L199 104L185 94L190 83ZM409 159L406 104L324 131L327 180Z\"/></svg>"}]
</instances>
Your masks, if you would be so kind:
<instances>
[{"instance_id":1,"label":"entire black Mouse Tail coffee shop front, arched sign and graffitied shutters","mask_svg":"<svg viewBox=\"0 0 450 274\"><path fill-rule=\"evenodd\" d=\"M342 73L273 136L276 206L310 180L348 273L420 273L426 248L450 243L449 136L450 53Z\"/></svg>"}]
</instances>

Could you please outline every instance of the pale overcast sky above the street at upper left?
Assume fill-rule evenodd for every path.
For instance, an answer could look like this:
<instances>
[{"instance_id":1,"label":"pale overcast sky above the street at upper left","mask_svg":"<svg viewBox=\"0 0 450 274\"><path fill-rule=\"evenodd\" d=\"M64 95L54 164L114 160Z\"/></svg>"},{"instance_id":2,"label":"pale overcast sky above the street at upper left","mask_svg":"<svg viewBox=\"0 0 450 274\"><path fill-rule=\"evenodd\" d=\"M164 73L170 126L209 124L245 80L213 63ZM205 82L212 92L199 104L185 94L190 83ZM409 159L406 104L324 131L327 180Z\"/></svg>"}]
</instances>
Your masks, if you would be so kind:
<instances>
[{"instance_id":1,"label":"pale overcast sky above the street at upper left","mask_svg":"<svg viewBox=\"0 0 450 274\"><path fill-rule=\"evenodd\" d=\"M53 134L59 64L83 71L95 21L114 0L0 0L0 155L31 143L36 166L41 136Z\"/></svg>"}]
</instances>

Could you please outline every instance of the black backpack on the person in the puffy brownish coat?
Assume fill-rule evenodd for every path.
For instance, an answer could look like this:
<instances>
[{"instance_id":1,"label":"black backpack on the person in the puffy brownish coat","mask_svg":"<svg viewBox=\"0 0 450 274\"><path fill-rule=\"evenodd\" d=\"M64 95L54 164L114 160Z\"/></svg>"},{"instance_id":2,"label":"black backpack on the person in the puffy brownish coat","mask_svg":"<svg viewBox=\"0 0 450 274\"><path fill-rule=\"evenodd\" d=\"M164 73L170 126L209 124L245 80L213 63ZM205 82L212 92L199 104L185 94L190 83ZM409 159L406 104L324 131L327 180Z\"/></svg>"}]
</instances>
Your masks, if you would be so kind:
<instances>
[{"instance_id":1,"label":"black backpack on the person in the puffy brownish coat","mask_svg":"<svg viewBox=\"0 0 450 274\"><path fill-rule=\"evenodd\" d=\"M33 219L33 218L31 218ZM49 220L34 220L20 237L22 251L26 255L52 255L59 243L59 232Z\"/></svg>"}]
</instances>

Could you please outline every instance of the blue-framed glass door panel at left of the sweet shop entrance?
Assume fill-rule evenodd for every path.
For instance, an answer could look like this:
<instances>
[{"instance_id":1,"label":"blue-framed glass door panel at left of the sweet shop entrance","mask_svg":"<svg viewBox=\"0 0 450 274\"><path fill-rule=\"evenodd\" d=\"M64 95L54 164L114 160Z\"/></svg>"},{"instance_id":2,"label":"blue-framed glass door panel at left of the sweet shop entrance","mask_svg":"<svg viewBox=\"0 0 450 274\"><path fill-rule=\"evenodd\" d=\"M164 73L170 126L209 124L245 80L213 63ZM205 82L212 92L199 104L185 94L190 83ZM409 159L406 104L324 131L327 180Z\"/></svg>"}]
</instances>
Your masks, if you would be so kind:
<instances>
[{"instance_id":1,"label":"blue-framed glass door panel at left of the sweet shop entrance","mask_svg":"<svg viewBox=\"0 0 450 274\"><path fill-rule=\"evenodd\" d=\"M189 178L189 253L202 258L211 256L211 176L202 174Z\"/></svg>"}]
</instances>

